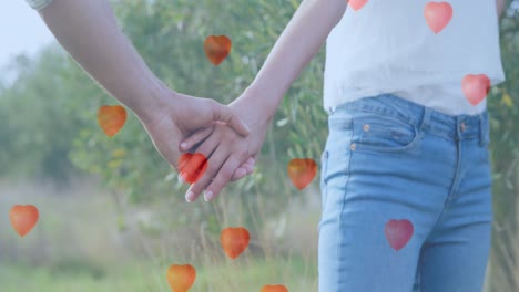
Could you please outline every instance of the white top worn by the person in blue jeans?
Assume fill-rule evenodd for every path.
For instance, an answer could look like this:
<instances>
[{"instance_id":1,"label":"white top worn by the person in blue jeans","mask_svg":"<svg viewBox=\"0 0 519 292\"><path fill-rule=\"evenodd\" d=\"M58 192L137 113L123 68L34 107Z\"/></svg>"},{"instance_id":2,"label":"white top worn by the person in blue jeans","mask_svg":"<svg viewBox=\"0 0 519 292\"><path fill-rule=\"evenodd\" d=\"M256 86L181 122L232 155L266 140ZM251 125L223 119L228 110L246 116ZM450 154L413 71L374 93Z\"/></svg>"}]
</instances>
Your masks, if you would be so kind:
<instances>
[{"instance_id":1,"label":"white top worn by the person in blue jeans","mask_svg":"<svg viewBox=\"0 0 519 292\"><path fill-rule=\"evenodd\" d=\"M462 93L467 74L505 81L496 0L450 0L452 18L438 34L426 22L429 0L368 0L350 7L326 43L324 107L393 93L439 112L478 114Z\"/></svg>"}]
</instances>

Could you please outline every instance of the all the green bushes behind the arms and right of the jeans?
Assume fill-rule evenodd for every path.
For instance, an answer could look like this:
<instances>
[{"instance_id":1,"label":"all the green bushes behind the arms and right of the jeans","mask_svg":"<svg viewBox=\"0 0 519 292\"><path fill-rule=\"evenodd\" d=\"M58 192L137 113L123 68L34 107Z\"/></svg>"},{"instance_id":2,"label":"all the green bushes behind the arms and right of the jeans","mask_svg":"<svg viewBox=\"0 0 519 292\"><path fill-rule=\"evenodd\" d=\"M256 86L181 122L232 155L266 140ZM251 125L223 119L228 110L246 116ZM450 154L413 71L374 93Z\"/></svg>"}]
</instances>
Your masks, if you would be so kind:
<instances>
[{"instance_id":1,"label":"all the green bushes behind the arms and right of the jeans","mask_svg":"<svg viewBox=\"0 0 519 292\"><path fill-rule=\"evenodd\" d=\"M125 34L167 85L227 104L253 81L298 2L128 0L115 2L115 10ZM499 227L495 244L500 242L502 232L518 230L517 220L510 217L517 212L519 195L519 83L515 82L519 80L518 29L516 10L501 21L508 81L488 97L495 216ZM203 50L203 42L211 34L225 34L233 41L230 56L218 66L206 60ZM169 231L204 222L212 237L217 237L224 221L244 225L254 232L264 220L286 209L292 197L301 196L288 181L287 163L296 157L318 161L327 136L322 108L322 50L278 108L256 173L226 188L222 204L195 202L186 212L186 187L176 181L176 175L156 153L138 118L129 115L124 128L115 137L106 137L98 126L98 108L116 101L61 50L50 46L34 60L19 58L13 66L18 80L9 86L0 84L0 164L9 166L0 168L0 175L50 175L62 179L72 169L99 175L123 204L150 205L161 210L161 228ZM317 182L315 179L313 186ZM224 206L231 202L235 204L234 210L246 210L244 221L240 216L233 217L234 212L225 212ZM123 220L119 225L125 228ZM492 253L499 262L510 257L517 254ZM499 279L506 282L506 277Z\"/></svg>"}]
</instances>

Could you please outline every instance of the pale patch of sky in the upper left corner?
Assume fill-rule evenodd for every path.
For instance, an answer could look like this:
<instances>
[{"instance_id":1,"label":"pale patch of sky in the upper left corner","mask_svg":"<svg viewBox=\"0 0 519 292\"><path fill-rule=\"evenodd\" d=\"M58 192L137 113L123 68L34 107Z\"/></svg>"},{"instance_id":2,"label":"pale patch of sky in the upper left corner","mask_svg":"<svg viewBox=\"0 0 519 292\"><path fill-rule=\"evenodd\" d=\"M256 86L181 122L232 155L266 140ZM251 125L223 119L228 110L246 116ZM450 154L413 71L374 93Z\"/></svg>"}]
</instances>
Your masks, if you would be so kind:
<instances>
[{"instance_id":1,"label":"pale patch of sky in the upper left corner","mask_svg":"<svg viewBox=\"0 0 519 292\"><path fill-rule=\"evenodd\" d=\"M19 53L34 55L54 36L24 0L3 0L0 8L0 74Z\"/></svg>"}]
</instances>

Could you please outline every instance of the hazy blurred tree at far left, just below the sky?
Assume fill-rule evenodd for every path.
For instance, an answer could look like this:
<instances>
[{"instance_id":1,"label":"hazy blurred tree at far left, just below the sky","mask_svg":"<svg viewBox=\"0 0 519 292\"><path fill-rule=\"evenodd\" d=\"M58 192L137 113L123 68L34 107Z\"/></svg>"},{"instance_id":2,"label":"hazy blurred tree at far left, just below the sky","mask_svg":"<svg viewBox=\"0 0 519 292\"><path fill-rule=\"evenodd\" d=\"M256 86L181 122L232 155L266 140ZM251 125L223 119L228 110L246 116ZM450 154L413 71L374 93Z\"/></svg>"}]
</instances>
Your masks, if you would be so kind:
<instances>
[{"instance_id":1,"label":"hazy blurred tree at far left, just below the sky","mask_svg":"<svg viewBox=\"0 0 519 292\"><path fill-rule=\"evenodd\" d=\"M81 126L68 106L77 88L62 86L69 64L55 46L35 60L21 55L18 80L1 92L0 163L3 175L51 176L62 180L73 169L68 153Z\"/></svg>"}]
</instances>

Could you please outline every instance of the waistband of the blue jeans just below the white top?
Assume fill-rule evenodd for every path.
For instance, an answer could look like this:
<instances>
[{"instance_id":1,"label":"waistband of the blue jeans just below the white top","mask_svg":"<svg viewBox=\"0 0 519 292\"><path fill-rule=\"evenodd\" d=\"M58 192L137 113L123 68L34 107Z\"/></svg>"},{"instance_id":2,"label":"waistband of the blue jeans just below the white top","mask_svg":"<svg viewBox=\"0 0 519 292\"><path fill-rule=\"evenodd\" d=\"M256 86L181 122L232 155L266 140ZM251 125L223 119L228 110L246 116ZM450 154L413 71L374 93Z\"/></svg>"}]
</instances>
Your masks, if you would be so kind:
<instances>
[{"instance_id":1,"label":"waistband of the blue jeans just below the white top","mask_svg":"<svg viewBox=\"0 0 519 292\"><path fill-rule=\"evenodd\" d=\"M343 103L332 109L330 118L340 115L345 109L391 116L413 124L421 131L428 129L451 139L479 138L480 145L489 143L487 111L478 115L452 116L393 94L383 94Z\"/></svg>"}]
</instances>

